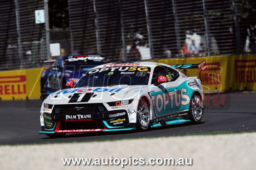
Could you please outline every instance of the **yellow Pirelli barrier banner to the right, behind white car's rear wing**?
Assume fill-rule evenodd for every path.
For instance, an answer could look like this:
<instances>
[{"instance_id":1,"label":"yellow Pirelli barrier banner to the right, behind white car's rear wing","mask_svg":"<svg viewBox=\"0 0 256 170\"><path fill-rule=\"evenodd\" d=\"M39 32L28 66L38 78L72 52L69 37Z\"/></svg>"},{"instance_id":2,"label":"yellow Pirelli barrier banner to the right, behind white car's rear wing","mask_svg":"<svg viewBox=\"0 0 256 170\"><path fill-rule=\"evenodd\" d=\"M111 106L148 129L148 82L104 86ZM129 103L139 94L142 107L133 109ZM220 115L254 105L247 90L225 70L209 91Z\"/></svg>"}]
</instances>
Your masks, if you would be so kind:
<instances>
[{"instance_id":1,"label":"yellow Pirelli barrier banner to the right, behind white car's rear wing","mask_svg":"<svg viewBox=\"0 0 256 170\"><path fill-rule=\"evenodd\" d=\"M256 90L256 55L159 59L153 61L172 65L183 72L186 67L184 64L199 64L204 60L207 63L207 70L186 69L186 75L198 77L202 82L205 93Z\"/></svg>"}]
</instances>

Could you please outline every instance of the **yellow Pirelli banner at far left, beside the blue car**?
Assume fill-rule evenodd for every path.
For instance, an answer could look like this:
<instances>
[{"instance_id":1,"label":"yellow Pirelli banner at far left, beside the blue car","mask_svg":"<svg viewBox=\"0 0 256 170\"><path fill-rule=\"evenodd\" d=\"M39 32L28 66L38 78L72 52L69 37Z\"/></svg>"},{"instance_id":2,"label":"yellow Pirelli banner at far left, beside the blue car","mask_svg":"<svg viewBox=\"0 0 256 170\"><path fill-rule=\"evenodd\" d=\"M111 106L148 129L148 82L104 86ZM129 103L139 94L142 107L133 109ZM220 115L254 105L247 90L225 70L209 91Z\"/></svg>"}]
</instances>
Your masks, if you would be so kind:
<instances>
[{"instance_id":1,"label":"yellow Pirelli banner at far left, beside the blue car","mask_svg":"<svg viewBox=\"0 0 256 170\"><path fill-rule=\"evenodd\" d=\"M41 68L0 72L0 100L40 98Z\"/></svg>"}]
</instances>

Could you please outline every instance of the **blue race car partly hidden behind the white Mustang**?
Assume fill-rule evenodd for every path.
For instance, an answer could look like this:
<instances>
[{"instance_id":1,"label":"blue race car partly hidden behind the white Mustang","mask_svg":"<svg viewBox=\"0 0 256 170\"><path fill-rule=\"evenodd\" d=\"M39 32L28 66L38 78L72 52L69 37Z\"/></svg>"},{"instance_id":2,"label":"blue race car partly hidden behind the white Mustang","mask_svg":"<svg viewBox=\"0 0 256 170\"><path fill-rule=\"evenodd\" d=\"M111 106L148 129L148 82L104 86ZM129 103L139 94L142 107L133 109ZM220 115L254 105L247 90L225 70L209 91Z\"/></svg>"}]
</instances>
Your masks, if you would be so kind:
<instances>
[{"instance_id":1,"label":"blue race car partly hidden behind the white Mustang","mask_svg":"<svg viewBox=\"0 0 256 170\"><path fill-rule=\"evenodd\" d=\"M54 91L65 89L65 84L70 80L76 83L91 68L109 62L100 55L73 55L44 61L52 65L41 75L41 99L44 100Z\"/></svg>"}]
</instances>

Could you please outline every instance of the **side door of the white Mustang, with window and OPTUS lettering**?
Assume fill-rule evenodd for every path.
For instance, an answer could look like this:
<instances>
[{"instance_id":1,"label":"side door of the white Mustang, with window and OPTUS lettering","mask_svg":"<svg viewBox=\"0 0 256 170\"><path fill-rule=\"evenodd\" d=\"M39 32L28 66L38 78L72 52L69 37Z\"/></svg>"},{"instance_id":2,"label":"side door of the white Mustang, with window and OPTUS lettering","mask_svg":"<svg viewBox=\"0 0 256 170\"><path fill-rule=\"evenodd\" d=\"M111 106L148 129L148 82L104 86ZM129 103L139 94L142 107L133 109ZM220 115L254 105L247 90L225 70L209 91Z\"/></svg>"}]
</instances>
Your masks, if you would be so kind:
<instances>
[{"instance_id":1,"label":"side door of the white Mustang, with window and OPTUS lettering","mask_svg":"<svg viewBox=\"0 0 256 170\"><path fill-rule=\"evenodd\" d=\"M171 67L155 67L150 92L156 117L177 113L181 105L179 72ZM162 79L162 80L161 80Z\"/></svg>"}]
</instances>

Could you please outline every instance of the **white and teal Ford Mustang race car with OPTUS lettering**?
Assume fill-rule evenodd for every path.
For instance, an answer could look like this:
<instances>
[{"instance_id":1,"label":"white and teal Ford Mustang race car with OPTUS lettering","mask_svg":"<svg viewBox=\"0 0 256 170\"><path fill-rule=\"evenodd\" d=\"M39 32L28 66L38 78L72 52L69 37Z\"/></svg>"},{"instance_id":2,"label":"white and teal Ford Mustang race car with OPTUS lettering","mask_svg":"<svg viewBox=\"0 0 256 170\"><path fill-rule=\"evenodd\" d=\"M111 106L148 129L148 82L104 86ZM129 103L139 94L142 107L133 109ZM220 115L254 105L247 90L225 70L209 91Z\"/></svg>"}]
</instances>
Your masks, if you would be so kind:
<instances>
[{"instance_id":1,"label":"white and teal Ford Mustang race car with OPTUS lettering","mask_svg":"<svg viewBox=\"0 0 256 170\"><path fill-rule=\"evenodd\" d=\"M191 66L195 64L182 67ZM44 100L39 133L61 137L66 133L199 124L204 113L201 81L174 67L156 62L96 66L76 84L67 82L69 89L53 92Z\"/></svg>"}]
</instances>

